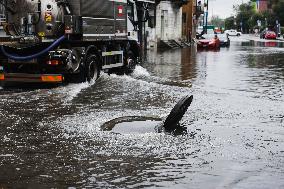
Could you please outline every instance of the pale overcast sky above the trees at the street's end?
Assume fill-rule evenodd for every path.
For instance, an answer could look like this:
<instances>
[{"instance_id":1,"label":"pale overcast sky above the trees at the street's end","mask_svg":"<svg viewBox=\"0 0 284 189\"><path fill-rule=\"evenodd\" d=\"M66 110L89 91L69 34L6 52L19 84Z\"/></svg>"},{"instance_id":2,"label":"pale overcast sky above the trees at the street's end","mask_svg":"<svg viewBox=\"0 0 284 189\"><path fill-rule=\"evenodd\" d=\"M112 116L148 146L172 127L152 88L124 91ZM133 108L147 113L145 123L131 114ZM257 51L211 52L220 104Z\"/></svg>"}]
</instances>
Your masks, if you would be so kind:
<instances>
[{"instance_id":1,"label":"pale overcast sky above the trees at the street's end","mask_svg":"<svg viewBox=\"0 0 284 189\"><path fill-rule=\"evenodd\" d=\"M233 5L248 2L249 0L209 0L209 18L218 15L220 18L227 18L234 15Z\"/></svg>"}]
</instances>

